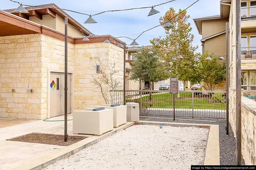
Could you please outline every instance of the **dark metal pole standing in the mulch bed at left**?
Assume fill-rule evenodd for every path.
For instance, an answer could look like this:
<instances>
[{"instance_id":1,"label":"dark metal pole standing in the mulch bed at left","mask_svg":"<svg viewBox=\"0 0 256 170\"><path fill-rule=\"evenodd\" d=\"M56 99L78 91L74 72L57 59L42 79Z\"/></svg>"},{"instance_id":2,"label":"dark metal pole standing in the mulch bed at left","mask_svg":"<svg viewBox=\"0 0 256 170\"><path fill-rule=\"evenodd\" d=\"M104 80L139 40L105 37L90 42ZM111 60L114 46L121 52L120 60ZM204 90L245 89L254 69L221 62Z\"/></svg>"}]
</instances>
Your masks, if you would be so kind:
<instances>
[{"instance_id":1,"label":"dark metal pole standing in the mulch bed at left","mask_svg":"<svg viewBox=\"0 0 256 170\"><path fill-rule=\"evenodd\" d=\"M68 18L65 17L65 125L64 141L68 141Z\"/></svg>"}]
</instances>

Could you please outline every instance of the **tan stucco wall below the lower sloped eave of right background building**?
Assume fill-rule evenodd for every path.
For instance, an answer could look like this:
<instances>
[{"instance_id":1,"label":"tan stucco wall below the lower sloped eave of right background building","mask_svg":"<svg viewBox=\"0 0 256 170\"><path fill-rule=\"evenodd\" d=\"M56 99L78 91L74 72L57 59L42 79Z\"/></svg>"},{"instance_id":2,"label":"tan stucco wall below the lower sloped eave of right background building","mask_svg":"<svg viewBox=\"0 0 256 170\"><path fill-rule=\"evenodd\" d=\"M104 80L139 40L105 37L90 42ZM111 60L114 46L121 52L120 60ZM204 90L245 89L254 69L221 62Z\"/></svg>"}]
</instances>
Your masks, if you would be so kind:
<instances>
[{"instance_id":1,"label":"tan stucco wall below the lower sloped eave of right background building","mask_svg":"<svg viewBox=\"0 0 256 170\"><path fill-rule=\"evenodd\" d=\"M226 33L205 40L204 46L205 51L208 50L210 54L214 53L214 55L226 55Z\"/></svg>"}]
</instances>

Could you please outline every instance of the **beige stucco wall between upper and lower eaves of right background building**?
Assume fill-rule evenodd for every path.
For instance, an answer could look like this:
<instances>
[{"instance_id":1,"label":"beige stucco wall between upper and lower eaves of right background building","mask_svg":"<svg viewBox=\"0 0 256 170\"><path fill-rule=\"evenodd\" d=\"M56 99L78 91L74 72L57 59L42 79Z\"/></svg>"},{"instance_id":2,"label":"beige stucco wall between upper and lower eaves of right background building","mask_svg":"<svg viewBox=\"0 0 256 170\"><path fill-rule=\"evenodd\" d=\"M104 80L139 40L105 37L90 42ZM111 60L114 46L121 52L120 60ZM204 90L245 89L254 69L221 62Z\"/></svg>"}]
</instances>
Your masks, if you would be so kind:
<instances>
[{"instance_id":1,"label":"beige stucco wall between upper and lower eaves of right background building","mask_svg":"<svg viewBox=\"0 0 256 170\"><path fill-rule=\"evenodd\" d=\"M211 20L202 22L202 38L215 35L226 30L228 20Z\"/></svg>"}]
</instances>

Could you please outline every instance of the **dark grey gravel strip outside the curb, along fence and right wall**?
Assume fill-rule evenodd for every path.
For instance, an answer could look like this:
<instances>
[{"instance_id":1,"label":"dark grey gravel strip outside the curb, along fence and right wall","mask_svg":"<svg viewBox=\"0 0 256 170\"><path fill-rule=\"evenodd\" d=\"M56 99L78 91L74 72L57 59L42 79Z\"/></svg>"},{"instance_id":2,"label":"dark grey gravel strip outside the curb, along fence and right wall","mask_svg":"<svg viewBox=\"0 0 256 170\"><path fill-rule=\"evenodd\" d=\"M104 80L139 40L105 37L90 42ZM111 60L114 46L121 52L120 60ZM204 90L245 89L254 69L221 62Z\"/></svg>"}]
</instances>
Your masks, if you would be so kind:
<instances>
[{"instance_id":1,"label":"dark grey gravel strip outside the curb, along fence and right wall","mask_svg":"<svg viewBox=\"0 0 256 170\"><path fill-rule=\"evenodd\" d=\"M143 115L146 116L146 115ZM161 116L161 115L147 115L149 117L162 117L162 118L149 118L149 117L140 117L140 121L158 121L158 122L173 122L172 117L170 116ZM220 138L220 165L236 165L236 139L234 133L229 124L229 135L226 135L226 119L222 118L202 118L195 117L195 120L203 121L190 121L191 117L175 117L175 122L182 123L199 123L199 124L218 124L219 125L219 138ZM187 119L187 120L178 120ZM189 119L189 120L188 120ZM214 121L214 122L206 122ZM244 161L243 161L244 165Z\"/></svg>"}]
</instances>

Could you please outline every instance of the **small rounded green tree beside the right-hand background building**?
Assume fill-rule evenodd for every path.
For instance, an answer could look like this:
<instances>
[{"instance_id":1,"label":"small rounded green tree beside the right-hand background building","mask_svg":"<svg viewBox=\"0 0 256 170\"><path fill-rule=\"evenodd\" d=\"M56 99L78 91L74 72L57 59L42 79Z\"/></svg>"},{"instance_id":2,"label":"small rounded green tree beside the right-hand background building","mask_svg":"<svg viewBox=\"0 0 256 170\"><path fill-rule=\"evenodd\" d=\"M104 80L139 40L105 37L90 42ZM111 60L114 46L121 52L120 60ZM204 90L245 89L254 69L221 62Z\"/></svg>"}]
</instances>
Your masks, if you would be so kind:
<instances>
[{"instance_id":1,"label":"small rounded green tree beside the right-hand background building","mask_svg":"<svg viewBox=\"0 0 256 170\"><path fill-rule=\"evenodd\" d=\"M226 80L226 63L222 63L218 60L218 57L212 57L213 53L209 55L206 51L205 56L199 58L196 64L196 70L193 74L194 80L197 83L201 83L201 86L205 90L214 90L215 86ZM205 60L207 56L210 56L212 60Z\"/></svg>"}]
</instances>

